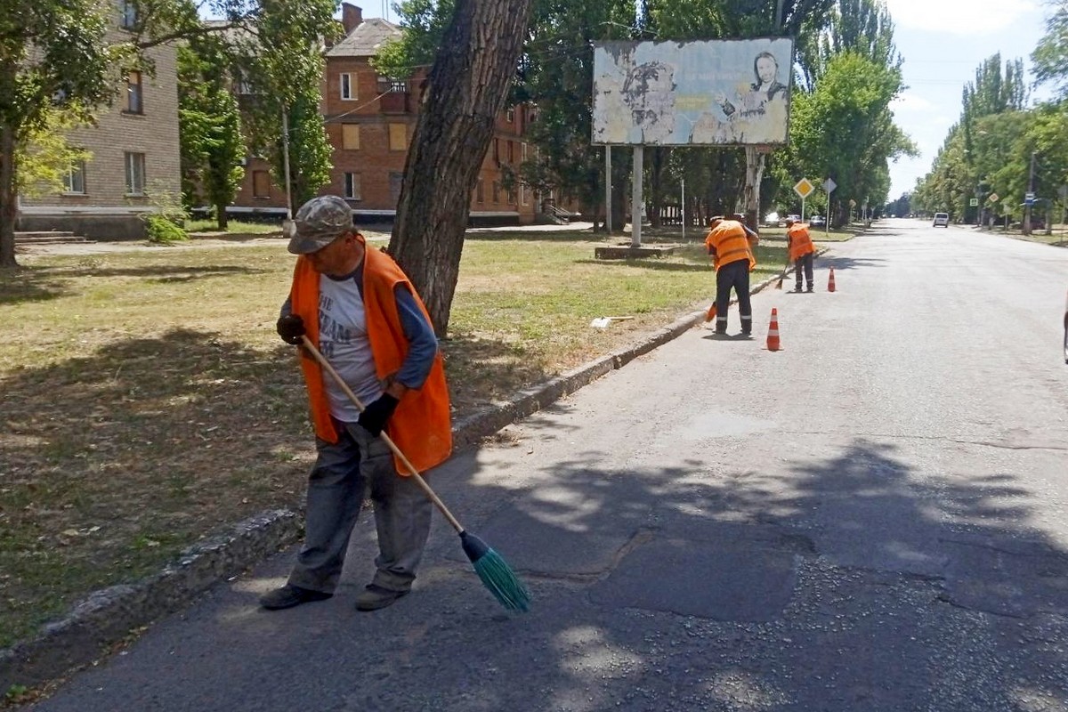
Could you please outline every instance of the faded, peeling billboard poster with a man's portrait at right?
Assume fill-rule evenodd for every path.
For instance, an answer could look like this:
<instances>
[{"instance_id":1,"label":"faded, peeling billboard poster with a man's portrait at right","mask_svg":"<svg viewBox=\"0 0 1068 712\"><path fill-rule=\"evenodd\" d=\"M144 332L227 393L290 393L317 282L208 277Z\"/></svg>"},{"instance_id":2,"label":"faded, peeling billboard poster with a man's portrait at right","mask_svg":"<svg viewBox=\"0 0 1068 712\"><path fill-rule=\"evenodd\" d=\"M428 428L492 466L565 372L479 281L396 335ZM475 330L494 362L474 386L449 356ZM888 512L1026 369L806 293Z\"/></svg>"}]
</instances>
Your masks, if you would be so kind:
<instances>
[{"instance_id":1,"label":"faded, peeling billboard poster with a man's portrait at right","mask_svg":"<svg viewBox=\"0 0 1068 712\"><path fill-rule=\"evenodd\" d=\"M596 44L593 143L786 143L792 64L782 37Z\"/></svg>"}]
</instances>

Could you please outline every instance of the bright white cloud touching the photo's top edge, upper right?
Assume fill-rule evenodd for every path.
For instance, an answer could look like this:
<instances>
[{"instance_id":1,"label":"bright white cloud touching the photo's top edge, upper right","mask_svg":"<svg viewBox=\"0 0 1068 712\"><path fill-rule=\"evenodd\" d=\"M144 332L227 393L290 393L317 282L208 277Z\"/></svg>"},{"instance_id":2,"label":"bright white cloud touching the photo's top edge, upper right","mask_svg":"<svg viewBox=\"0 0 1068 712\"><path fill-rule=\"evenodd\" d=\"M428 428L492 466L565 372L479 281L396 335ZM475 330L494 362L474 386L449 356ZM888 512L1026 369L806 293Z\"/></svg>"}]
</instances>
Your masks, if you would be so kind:
<instances>
[{"instance_id":1,"label":"bright white cloud touching the photo's top edge, upper right","mask_svg":"<svg viewBox=\"0 0 1068 712\"><path fill-rule=\"evenodd\" d=\"M973 37L1004 32L1038 10L1035 0L888 0L886 5L900 28Z\"/></svg>"}]
</instances>

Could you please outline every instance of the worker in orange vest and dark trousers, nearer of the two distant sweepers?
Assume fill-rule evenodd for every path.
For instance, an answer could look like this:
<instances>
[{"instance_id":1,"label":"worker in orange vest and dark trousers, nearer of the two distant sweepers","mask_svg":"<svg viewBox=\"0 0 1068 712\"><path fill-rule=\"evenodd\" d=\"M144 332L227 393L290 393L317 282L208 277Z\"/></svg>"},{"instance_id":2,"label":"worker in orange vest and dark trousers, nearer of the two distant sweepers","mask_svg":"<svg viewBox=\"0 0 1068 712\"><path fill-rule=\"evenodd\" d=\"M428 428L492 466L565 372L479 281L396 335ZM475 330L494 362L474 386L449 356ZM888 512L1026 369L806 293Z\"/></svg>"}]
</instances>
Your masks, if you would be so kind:
<instances>
[{"instance_id":1,"label":"worker in orange vest and dark trousers, nearer of the two distant sweepers","mask_svg":"<svg viewBox=\"0 0 1068 712\"><path fill-rule=\"evenodd\" d=\"M753 333L753 307L749 301L749 273L756 267L753 247L758 237L740 220L727 220L722 216L708 223L705 247L716 267L716 333L727 333L727 307L731 304L731 289L738 295L738 314L741 317L741 333Z\"/></svg>"}]
</instances>

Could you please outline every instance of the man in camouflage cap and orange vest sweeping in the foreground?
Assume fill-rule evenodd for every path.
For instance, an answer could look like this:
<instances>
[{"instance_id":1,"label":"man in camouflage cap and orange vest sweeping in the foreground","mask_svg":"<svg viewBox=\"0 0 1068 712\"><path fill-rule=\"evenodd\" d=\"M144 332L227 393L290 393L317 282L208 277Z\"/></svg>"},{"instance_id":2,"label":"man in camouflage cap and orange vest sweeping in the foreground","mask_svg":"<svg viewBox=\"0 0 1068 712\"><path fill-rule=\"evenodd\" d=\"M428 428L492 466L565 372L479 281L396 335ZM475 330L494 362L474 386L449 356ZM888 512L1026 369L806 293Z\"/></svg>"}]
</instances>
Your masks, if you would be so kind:
<instances>
[{"instance_id":1,"label":"man in camouflage cap and orange vest sweeping in the foreground","mask_svg":"<svg viewBox=\"0 0 1068 712\"><path fill-rule=\"evenodd\" d=\"M438 341L411 282L383 252L368 250L341 197L314 197L294 221L299 255L278 333L305 336L367 404L361 412L301 349L317 459L309 474L304 543L288 582L260 602L288 608L333 596L349 536L370 489L378 533L372 582L357 596L375 611L408 594L430 531L433 505L399 474L383 430L420 471L452 450L449 391Z\"/></svg>"}]
</instances>

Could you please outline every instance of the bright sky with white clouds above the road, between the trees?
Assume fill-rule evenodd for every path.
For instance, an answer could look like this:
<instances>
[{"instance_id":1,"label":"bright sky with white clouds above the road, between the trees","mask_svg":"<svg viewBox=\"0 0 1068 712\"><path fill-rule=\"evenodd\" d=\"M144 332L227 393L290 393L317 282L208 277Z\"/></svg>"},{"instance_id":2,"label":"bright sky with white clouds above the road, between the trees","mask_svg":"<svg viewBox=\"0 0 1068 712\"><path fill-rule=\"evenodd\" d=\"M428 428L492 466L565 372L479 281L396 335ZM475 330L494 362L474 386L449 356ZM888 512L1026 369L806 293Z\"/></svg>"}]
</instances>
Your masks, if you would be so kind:
<instances>
[{"instance_id":1,"label":"bright sky with white clouds above the road, between the trees","mask_svg":"<svg viewBox=\"0 0 1068 712\"><path fill-rule=\"evenodd\" d=\"M349 0L354 1L354 0ZM396 22L389 0L355 0L365 17ZM897 125L920 149L890 165L890 200L911 192L930 170L949 127L960 118L961 92L984 60L1001 52L1002 66L1022 59L1031 81L1031 52L1046 32L1043 0L886 0L894 41L905 60L907 89L893 104ZM1049 98L1046 88L1032 99Z\"/></svg>"}]
</instances>

